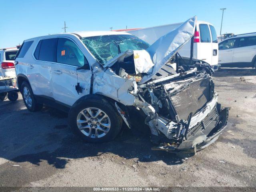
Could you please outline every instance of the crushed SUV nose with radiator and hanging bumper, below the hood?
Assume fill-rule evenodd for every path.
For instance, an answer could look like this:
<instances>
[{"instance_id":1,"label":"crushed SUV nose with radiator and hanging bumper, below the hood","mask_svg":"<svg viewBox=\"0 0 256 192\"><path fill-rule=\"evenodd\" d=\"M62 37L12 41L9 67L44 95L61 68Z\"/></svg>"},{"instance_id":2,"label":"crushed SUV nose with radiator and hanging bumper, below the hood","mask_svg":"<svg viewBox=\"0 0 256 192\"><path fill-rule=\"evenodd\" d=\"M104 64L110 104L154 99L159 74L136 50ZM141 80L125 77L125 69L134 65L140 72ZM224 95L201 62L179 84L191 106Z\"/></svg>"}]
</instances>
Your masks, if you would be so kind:
<instances>
[{"instance_id":1,"label":"crushed SUV nose with radiator and hanging bumper, below the hood","mask_svg":"<svg viewBox=\"0 0 256 192\"><path fill-rule=\"evenodd\" d=\"M212 77L197 68L153 80L138 87L153 150L193 153L218 139L227 125L228 108L217 102ZM151 110L151 111L150 111Z\"/></svg>"}]
</instances>

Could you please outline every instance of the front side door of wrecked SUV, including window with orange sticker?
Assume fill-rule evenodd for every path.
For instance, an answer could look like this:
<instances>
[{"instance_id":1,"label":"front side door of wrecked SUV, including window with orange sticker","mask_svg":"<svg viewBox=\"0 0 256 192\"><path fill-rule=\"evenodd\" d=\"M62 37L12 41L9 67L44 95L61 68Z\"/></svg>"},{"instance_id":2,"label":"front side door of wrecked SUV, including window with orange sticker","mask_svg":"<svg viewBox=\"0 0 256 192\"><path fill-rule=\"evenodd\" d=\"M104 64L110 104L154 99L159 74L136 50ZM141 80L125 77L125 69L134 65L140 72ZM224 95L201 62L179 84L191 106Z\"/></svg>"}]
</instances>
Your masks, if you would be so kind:
<instances>
[{"instance_id":1,"label":"front side door of wrecked SUV, including window with orange sticker","mask_svg":"<svg viewBox=\"0 0 256 192\"><path fill-rule=\"evenodd\" d=\"M56 63L52 64L51 73L56 102L70 107L78 98L90 93L92 71L84 54L71 39L58 38Z\"/></svg>"}]
</instances>

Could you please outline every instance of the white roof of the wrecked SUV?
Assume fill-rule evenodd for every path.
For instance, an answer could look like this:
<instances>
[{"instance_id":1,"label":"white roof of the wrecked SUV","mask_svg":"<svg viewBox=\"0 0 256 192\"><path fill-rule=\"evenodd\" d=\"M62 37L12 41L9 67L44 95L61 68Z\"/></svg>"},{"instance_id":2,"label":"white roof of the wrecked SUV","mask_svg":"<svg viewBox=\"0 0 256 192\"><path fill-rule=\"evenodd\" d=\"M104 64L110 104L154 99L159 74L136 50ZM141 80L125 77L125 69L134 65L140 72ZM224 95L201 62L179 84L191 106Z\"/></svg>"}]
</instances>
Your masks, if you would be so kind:
<instances>
[{"instance_id":1,"label":"white roof of the wrecked SUV","mask_svg":"<svg viewBox=\"0 0 256 192\"><path fill-rule=\"evenodd\" d=\"M52 34L52 35L46 35L46 36L38 36L30 39L24 40L30 41L30 40L36 40L37 38L54 38L62 35L77 35L79 37L93 37L93 36L101 36L101 35L131 35L126 32L117 32L117 31L76 31L76 32L68 32L68 33L58 33L58 34Z\"/></svg>"}]
</instances>

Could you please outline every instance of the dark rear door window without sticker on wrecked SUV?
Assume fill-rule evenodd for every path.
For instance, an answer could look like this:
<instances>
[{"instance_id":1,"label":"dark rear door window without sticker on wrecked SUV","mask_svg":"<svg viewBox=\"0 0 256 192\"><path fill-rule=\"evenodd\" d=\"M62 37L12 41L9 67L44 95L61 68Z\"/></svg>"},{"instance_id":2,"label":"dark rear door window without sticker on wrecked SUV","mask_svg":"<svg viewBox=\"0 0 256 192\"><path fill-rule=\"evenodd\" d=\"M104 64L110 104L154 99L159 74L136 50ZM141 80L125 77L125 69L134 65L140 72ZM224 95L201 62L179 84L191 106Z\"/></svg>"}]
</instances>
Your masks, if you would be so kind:
<instances>
[{"instance_id":1,"label":"dark rear door window without sticker on wrecked SUV","mask_svg":"<svg viewBox=\"0 0 256 192\"><path fill-rule=\"evenodd\" d=\"M41 40L38 60L56 62L56 46L58 38Z\"/></svg>"}]
</instances>

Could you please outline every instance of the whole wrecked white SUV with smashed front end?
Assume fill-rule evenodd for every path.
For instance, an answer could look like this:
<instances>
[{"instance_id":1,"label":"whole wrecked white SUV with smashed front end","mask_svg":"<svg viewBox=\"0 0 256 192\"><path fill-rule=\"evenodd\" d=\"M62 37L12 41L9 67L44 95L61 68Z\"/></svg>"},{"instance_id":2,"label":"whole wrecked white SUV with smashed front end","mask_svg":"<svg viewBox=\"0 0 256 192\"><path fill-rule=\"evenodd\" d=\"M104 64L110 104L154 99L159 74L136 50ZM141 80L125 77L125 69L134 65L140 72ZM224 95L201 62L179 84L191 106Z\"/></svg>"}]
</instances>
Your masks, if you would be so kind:
<instances>
[{"instance_id":1,"label":"whole wrecked white SUV with smashed front end","mask_svg":"<svg viewBox=\"0 0 256 192\"><path fill-rule=\"evenodd\" d=\"M228 109L217 103L211 66L177 54L195 23L187 20L151 46L112 31L25 40L15 60L24 103L32 112L42 104L67 111L70 128L86 142L114 139L122 122L139 130L140 120L158 150L201 150L226 127Z\"/></svg>"}]
</instances>

